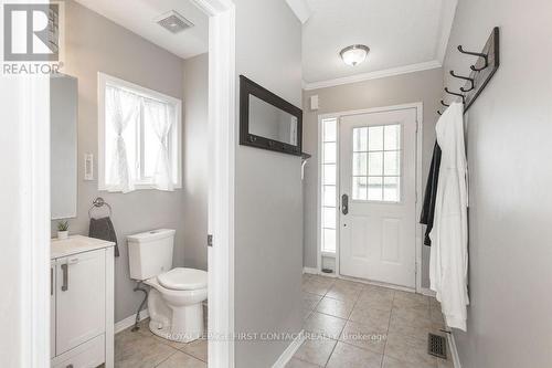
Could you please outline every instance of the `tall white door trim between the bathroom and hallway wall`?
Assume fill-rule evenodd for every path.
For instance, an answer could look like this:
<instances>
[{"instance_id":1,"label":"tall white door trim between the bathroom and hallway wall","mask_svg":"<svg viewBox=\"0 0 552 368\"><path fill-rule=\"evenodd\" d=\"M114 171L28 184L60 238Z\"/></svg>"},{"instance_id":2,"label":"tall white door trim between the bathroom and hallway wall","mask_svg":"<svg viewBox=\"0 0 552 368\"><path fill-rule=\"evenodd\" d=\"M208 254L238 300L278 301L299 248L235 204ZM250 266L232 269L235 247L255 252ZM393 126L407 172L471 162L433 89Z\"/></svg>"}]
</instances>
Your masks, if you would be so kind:
<instances>
[{"instance_id":1,"label":"tall white door trim between the bathroom and hallway wall","mask_svg":"<svg viewBox=\"0 0 552 368\"><path fill-rule=\"evenodd\" d=\"M192 0L209 17L209 366L234 367L235 7ZM206 239L205 239L206 242Z\"/></svg>"}]
</instances>

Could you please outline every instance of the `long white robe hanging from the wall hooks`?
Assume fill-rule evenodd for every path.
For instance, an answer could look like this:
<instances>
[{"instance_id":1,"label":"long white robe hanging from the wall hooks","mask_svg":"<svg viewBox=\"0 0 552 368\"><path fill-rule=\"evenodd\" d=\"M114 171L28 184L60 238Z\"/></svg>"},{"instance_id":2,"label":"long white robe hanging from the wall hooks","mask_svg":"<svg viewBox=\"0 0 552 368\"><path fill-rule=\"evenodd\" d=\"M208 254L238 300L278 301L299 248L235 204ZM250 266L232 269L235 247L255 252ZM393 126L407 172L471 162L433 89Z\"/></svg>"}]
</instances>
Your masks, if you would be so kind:
<instances>
[{"instance_id":1,"label":"long white robe hanging from the wall hooks","mask_svg":"<svg viewBox=\"0 0 552 368\"><path fill-rule=\"evenodd\" d=\"M429 260L431 288L449 327L466 330L468 272L467 161L464 105L453 103L435 127L443 151Z\"/></svg>"}]
</instances>

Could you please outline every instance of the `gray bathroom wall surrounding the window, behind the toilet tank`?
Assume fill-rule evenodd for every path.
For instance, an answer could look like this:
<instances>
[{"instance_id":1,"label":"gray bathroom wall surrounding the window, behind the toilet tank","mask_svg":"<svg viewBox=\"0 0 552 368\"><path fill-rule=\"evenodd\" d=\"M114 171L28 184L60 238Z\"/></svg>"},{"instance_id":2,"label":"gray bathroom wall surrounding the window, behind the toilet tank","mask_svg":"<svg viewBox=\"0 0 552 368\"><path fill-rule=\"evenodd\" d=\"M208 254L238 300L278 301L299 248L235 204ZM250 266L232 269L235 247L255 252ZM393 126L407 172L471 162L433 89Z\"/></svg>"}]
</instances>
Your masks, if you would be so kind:
<instances>
[{"instance_id":1,"label":"gray bathroom wall surrounding the window, behind the toilet tank","mask_svg":"<svg viewBox=\"0 0 552 368\"><path fill-rule=\"evenodd\" d=\"M66 66L64 73L78 78L78 201L71 233L88 233L88 208L102 196L113 207L120 256L115 260L115 320L136 312L144 295L132 292L126 235L155 228L177 230L174 264L183 260L184 196L182 190L137 190L131 193L99 192L97 180L84 181L85 153L94 154L97 179L97 72L182 98L182 60L104 17L67 1L65 7ZM52 224L54 228L55 223ZM54 230L54 229L53 229Z\"/></svg>"}]
</instances>

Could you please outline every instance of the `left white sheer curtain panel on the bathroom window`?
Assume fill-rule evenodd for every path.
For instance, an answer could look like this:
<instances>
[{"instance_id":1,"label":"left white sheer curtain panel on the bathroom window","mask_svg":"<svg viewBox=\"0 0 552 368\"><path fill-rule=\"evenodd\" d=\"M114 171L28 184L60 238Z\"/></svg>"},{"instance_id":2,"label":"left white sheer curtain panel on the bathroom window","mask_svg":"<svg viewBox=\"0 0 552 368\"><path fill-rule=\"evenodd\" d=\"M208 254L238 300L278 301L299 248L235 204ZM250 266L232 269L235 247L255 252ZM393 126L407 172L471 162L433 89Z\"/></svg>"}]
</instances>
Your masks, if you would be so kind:
<instances>
[{"instance_id":1,"label":"left white sheer curtain panel on the bathroom window","mask_svg":"<svg viewBox=\"0 0 552 368\"><path fill-rule=\"evenodd\" d=\"M125 144L125 129L139 117L140 99L137 95L124 90L106 85L106 120L115 134L114 148L112 150L106 180L108 191L121 191L124 193L135 190L134 168L128 164L127 147Z\"/></svg>"}]
</instances>

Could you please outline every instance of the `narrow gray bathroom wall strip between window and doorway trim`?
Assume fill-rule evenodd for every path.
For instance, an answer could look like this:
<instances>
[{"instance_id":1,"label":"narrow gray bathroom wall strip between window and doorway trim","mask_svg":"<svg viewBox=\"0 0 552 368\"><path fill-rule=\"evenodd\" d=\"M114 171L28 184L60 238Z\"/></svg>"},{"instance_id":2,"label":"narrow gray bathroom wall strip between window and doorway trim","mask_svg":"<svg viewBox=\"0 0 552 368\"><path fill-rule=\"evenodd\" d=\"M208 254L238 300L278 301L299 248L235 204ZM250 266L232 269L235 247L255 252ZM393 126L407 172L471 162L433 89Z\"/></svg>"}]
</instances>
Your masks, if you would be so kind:
<instances>
[{"instance_id":1,"label":"narrow gray bathroom wall strip between window and doorway trim","mask_svg":"<svg viewBox=\"0 0 552 368\"><path fill-rule=\"evenodd\" d=\"M184 60L184 265L208 269L209 54Z\"/></svg>"}]
</instances>

